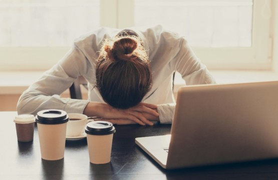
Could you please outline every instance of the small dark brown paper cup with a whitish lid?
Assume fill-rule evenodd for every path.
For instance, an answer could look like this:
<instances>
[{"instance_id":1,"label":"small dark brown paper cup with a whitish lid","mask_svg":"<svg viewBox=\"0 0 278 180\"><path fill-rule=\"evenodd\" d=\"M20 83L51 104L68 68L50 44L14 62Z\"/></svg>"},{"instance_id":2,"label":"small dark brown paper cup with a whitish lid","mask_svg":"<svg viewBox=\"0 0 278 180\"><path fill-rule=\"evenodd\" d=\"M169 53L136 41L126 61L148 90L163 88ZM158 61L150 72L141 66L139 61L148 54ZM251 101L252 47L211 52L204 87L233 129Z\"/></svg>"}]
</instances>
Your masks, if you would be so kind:
<instances>
[{"instance_id":1,"label":"small dark brown paper cup with a whitish lid","mask_svg":"<svg viewBox=\"0 0 278 180\"><path fill-rule=\"evenodd\" d=\"M32 114L21 114L14 118L16 123L18 141L30 142L34 138L35 116Z\"/></svg>"}]
</instances>

